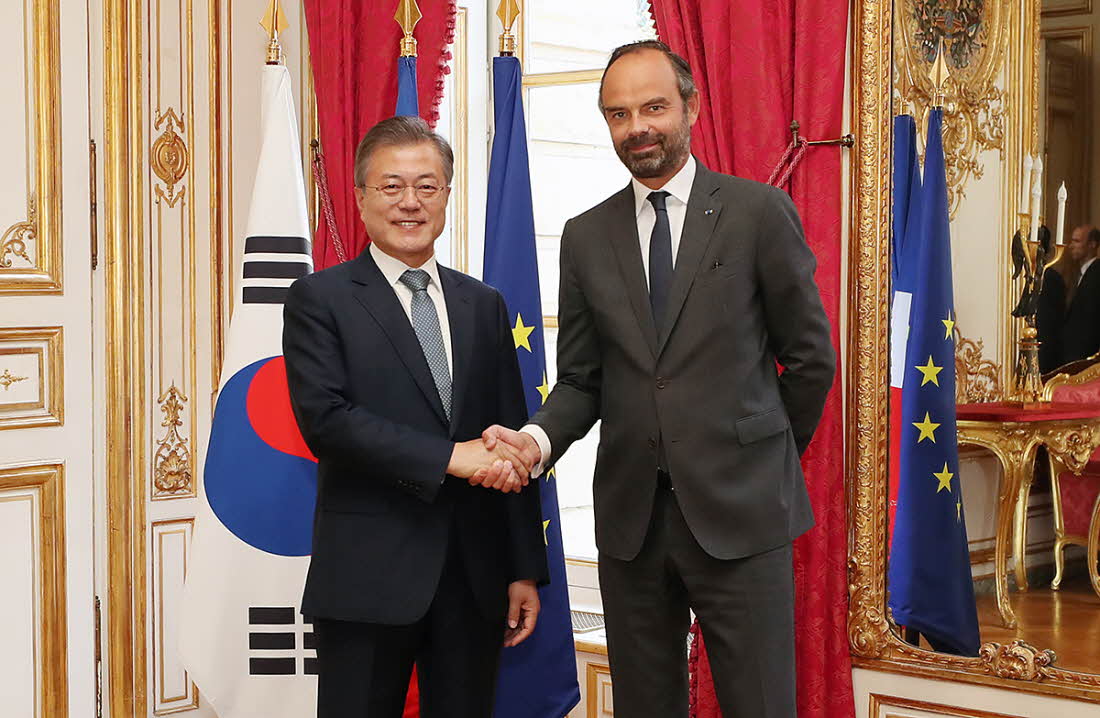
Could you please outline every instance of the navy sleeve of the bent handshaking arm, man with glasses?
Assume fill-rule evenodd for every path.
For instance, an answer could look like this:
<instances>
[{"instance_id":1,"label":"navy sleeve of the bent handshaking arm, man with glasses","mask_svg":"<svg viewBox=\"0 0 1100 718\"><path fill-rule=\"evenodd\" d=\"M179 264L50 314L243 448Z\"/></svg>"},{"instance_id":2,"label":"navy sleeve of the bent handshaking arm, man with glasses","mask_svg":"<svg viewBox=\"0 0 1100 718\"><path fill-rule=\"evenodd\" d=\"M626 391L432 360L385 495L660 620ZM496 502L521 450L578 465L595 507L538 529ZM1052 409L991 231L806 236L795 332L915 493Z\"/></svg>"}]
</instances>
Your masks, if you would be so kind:
<instances>
[{"instance_id":1,"label":"navy sleeve of the bent handshaking arm, man with glasses","mask_svg":"<svg viewBox=\"0 0 1100 718\"><path fill-rule=\"evenodd\" d=\"M296 281L283 309L290 406L314 455L351 466L431 502L454 444L380 417L346 398L343 346L332 312L311 283Z\"/></svg>"}]
</instances>

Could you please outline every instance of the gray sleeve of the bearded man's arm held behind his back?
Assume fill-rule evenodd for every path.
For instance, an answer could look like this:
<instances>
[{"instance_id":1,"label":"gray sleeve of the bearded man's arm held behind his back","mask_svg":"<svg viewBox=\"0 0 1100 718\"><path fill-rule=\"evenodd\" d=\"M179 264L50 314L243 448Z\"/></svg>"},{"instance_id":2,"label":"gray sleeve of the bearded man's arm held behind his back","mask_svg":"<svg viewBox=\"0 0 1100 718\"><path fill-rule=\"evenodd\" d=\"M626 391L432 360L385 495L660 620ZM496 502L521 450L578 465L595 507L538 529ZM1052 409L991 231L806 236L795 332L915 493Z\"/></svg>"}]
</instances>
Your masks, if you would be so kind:
<instances>
[{"instance_id":1,"label":"gray sleeve of the bearded man's arm held behind his back","mask_svg":"<svg viewBox=\"0 0 1100 718\"><path fill-rule=\"evenodd\" d=\"M779 391L799 453L805 452L833 386L836 353L802 222L787 192L776 189L757 238L757 276L768 341L783 366Z\"/></svg>"}]
</instances>

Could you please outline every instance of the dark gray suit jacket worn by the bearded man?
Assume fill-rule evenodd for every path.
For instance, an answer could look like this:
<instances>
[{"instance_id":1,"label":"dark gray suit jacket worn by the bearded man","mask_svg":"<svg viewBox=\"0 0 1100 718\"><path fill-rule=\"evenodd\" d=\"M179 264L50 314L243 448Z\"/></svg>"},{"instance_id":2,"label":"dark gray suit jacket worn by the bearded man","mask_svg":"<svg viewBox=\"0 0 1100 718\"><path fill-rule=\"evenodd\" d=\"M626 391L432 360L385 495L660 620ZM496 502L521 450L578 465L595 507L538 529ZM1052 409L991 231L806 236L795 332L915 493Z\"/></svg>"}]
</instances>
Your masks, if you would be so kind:
<instances>
[{"instance_id":1,"label":"dark gray suit jacket worn by the bearded man","mask_svg":"<svg viewBox=\"0 0 1100 718\"><path fill-rule=\"evenodd\" d=\"M711 555L760 553L813 526L800 456L836 365L815 266L785 192L697 164L658 334L631 188L565 224L558 382L531 422L553 463L603 421L602 553L630 560L641 549L659 439Z\"/></svg>"}]
</instances>

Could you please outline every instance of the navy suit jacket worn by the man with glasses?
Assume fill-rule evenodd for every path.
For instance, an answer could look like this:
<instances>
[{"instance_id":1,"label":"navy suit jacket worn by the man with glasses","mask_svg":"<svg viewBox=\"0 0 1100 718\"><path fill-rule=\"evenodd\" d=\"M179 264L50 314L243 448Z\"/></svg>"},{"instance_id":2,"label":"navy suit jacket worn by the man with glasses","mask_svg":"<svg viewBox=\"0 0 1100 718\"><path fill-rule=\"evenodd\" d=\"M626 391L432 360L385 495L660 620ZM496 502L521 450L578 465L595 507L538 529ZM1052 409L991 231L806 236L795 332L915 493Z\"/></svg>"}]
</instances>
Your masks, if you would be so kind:
<instances>
[{"instance_id":1,"label":"navy suit jacket worn by the man with glasses","mask_svg":"<svg viewBox=\"0 0 1100 718\"><path fill-rule=\"evenodd\" d=\"M290 401L318 459L314 552L302 614L408 625L422 617L458 541L486 618L503 622L507 585L546 583L539 491L447 477L454 442L526 406L501 295L439 267L453 353L451 420L393 287L364 251L298 279L284 310Z\"/></svg>"}]
</instances>

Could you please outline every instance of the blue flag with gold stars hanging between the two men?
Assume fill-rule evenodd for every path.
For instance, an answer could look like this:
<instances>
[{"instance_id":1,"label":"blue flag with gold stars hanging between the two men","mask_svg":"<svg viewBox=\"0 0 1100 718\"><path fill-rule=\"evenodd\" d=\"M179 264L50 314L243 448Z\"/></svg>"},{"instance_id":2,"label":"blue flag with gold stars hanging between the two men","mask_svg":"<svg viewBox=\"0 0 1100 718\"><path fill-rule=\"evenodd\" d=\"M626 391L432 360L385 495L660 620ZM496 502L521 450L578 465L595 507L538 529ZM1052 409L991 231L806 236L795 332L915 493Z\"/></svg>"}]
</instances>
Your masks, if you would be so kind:
<instances>
[{"instance_id":1,"label":"blue flag with gold stars hanging between the two men","mask_svg":"<svg viewBox=\"0 0 1100 718\"><path fill-rule=\"evenodd\" d=\"M527 411L535 413L550 393L550 385L542 341L521 80L518 59L493 59L496 132L488 168L484 276L486 283L501 290L508 305ZM561 718L581 699L557 479L548 476L537 480L542 491L550 585L539 590L542 611L535 633L519 645L504 650L494 711L497 718Z\"/></svg>"}]
</instances>

